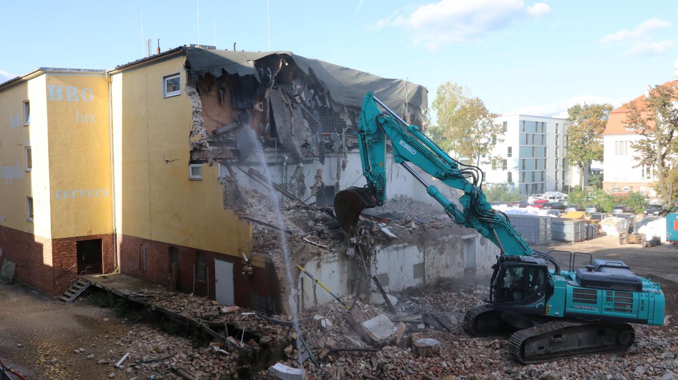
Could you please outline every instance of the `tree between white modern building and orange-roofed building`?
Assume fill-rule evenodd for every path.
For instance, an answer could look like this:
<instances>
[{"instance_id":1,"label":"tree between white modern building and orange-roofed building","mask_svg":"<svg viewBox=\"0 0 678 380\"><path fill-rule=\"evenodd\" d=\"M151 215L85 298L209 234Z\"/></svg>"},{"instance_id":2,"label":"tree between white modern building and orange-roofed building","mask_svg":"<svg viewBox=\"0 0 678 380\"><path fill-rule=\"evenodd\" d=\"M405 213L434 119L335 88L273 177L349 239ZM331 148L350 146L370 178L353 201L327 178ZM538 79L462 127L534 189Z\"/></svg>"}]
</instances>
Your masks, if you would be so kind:
<instances>
[{"instance_id":1,"label":"tree between white modern building and orange-roofed building","mask_svg":"<svg viewBox=\"0 0 678 380\"><path fill-rule=\"evenodd\" d=\"M579 186L584 187L584 167L591 161L603 161L603 131L610 119L610 104L576 104L567 110L572 122L567 129L565 158L579 168Z\"/></svg>"}]
</instances>

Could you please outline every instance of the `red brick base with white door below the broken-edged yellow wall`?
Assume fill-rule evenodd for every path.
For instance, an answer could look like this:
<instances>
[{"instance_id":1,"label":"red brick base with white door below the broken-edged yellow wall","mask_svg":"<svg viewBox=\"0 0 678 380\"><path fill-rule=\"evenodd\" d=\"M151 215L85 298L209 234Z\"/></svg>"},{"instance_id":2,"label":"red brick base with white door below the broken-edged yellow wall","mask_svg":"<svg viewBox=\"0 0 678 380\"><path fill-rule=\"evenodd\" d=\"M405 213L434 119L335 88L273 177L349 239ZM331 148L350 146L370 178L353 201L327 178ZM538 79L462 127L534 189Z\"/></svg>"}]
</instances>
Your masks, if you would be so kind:
<instances>
[{"instance_id":1,"label":"red brick base with white door below the broken-edged yellow wall","mask_svg":"<svg viewBox=\"0 0 678 380\"><path fill-rule=\"evenodd\" d=\"M120 272L136 276L144 280L167 286L169 282L169 247L176 247L179 251L179 276L177 290L195 295L215 298L214 259L221 259L233 263L235 304L245 308L254 305L253 295L268 298L270 302L267 312L281 312L281 291L279 280L275 272L273 261L266 259L265 268L254 267L250 276L242 274L243 259L222 253L201 251L205 255L208 281L197 280L197 252L198 249L171 245L165 242L148 240L129 235L117 235ZM146 264L144 268L144 248L146 249ZM209 288L209 294L208 293Z\"/></svg>"}]
</instances>

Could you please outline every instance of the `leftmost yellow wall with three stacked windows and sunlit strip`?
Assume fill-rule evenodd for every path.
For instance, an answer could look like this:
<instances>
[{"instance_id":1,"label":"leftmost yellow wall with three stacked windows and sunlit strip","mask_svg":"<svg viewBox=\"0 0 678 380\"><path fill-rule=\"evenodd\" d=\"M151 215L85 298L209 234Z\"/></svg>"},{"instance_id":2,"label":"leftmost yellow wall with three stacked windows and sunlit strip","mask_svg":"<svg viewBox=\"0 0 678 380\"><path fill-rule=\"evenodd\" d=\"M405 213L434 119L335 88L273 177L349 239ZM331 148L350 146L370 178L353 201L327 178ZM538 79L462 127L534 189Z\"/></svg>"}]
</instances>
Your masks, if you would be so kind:
<instances>
[{"instance_id":1,"label":"leftmost yellow wall with three stacked windows and sunlit strip","mask_svg":"<svg viewBox=\"0 0 678 380\"><path fill-rule=\"evenodd\" d=\"M24 125L25 100L31 105L30 125ZM26 146L32 150L32 171L26 171ZM1 226L51 237L48 154L45 75L0 90ZM33 222L27 220L27 196L33 196Z\"/></svg>"}]
</instances>

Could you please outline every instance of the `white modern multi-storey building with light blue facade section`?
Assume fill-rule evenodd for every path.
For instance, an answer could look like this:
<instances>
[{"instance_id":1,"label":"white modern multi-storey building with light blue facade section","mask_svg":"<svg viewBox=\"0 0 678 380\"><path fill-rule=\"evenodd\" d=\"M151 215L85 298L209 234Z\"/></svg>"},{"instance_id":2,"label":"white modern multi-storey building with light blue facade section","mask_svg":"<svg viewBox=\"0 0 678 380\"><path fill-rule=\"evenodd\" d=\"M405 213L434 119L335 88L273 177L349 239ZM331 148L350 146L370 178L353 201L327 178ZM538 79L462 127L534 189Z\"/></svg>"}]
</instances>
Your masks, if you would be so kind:
<instances>
[{"instance_id":1,"label":"white modern multi-storey building with light blue facade section","mask_svg":"<svg viewBox=\"0 0 678 380\"><path fill-rule=\"evenodd\" d=\"M504 127L504 135L492 154L481 157L486 184L517 188L525 195L567 192L578 185L579 169L565 159L567 119L513 114L495 121ZM491 158L499 158L494 167Z\"/></svg>"}]
</instances>

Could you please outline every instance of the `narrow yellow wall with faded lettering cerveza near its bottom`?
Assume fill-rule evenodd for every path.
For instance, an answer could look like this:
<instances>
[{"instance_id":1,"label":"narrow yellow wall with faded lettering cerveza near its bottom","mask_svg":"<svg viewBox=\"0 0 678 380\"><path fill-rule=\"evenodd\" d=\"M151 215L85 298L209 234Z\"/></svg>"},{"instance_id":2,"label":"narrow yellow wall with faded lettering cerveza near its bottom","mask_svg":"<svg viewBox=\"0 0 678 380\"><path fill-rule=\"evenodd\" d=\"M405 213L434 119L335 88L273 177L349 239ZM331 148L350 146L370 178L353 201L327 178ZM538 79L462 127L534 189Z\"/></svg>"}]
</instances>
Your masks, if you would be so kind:
<instances>
[{"instance_id":1,"label":"narrow yellow wall with faded lettering cerveza near its bottom","mask_svg":"<svg viewBox=\"0 0 678 380\"><path fill-rule=\"evenodd\" d=\"M113 232L108 82L104 74L46 75L52 238Z\"/></svg>"}]
</instances>

